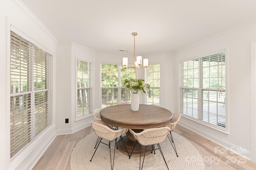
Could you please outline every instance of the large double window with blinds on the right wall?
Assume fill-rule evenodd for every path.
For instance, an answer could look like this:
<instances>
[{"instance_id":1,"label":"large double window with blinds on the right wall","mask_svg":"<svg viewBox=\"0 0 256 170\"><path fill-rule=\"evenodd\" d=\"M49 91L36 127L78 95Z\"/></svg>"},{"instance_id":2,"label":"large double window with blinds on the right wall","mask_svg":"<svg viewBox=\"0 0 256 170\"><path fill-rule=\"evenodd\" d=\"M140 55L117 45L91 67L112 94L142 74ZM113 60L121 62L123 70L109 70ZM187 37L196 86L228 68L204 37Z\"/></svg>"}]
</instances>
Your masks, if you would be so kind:
<instances>
[{"instance_id":1,"label":"large double window with blinds on the right wall","mask_svg":"<svg viewBox=\"0 0 256 170\"><path fill-rule=\"evenodd\" d=\"M226 127L225 52L180 63L180 111Z\"/></svg>"}]
</instances>

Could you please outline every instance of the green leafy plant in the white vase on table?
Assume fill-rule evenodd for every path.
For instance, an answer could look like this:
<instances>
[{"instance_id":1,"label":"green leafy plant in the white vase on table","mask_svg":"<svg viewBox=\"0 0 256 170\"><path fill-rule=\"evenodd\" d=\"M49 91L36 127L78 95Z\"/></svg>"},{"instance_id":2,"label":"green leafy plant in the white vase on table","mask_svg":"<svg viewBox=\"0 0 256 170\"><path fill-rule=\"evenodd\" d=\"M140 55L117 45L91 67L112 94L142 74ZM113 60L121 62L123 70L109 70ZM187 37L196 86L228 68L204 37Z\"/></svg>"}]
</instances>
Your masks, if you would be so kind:
<instances>
[{"instance_id":1,"label":"green leafy plant in the white vase on table","mask_svg":"<svg viewBox=\"0 0 256 170\"><path fill-rule=\"evenodd\" d=\"M138 93L138 92L143 92L146 94L148 92L150 85L145 84L143 85L144 79L135 79L135 78L130 78L130 79L125 79L124 80L124 87L126 88L126 91L131 92L131 93Z\"/></svg>"}]
</instances>

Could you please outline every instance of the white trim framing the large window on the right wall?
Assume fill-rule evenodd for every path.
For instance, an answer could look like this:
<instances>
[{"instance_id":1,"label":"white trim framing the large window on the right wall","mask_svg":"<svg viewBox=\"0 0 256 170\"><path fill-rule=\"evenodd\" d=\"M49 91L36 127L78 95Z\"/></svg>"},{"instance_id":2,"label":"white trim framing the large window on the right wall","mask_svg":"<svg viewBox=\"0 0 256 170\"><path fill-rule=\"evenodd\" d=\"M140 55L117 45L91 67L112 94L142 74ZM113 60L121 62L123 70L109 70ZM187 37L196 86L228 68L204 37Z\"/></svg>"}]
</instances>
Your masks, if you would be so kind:
<instances>
[{"instance_id":1,"label":"white trim framing the large window on the right wall","mask_svg":"<svg viewBox=\"0 0 256 170\"><path fill-rule=\"evenodd\" d=\"M216 53L221 53L221 52L223 52L223 51L225 51L225 60L226 60L226 69L225 69L225 71L226 71L226 73L225 73L225 78L226 78L226 89L225 89L225 92L226 92L226 101L225 101L225 103L226 103L226 125L225 125L225 128L222 128L222 127L217 127L216 125L212 125L212 124L210 124L210 123L208 123L208 122L204 122L204 121L202 121L202 120L199 120L199 119L196 119L196 118L194 118L194 117L191 117L191 116L188 116L188 115L186 115L186 114L183 114L183 113L181 113L181 110L180 110L180 87L181 87L181 84L180 84L180 80L179 80L179 92L178 92L178 101L179 101L179 113L181 113L181 115L182 115L182 117L186 117L187 119L190 119L191 121L194 121L194 122L196 122L196 123L200 123L201 125L204 125L204 126L207 126L207 127L210 127L211 129L213 129L213 130L215 130L215 131L217 131L217 132L219 132L219 133L221 133L221 134L224 134L224 135L229 135L229 109L228 109L228 107L229 107L229 104L228 104L228 89L229 89L229 84L228 84L228 47L225 47L225 48L223 48L223 49L220 49L220 50L217 50L217 51L213 51L213 52L210 52L210 53L205 53L205 54L203 54L203 55L197 55L197 56L194 56L194 57L191 57L191 58L188 58L188 59L184 59L184 60L180 60L179 61L179 65L180 65L180 63L183 63L184 61L188 61L188 60L193 60L193 59L198 59L198 58L202 58L202 57L205 57L205 56L208 56L208 55L214 55L214 54L216 54ZM179 77L180 77L180 75L181 75L181 72L180 72L180 69L179 69Z\"/></svg>"}]
</instances>

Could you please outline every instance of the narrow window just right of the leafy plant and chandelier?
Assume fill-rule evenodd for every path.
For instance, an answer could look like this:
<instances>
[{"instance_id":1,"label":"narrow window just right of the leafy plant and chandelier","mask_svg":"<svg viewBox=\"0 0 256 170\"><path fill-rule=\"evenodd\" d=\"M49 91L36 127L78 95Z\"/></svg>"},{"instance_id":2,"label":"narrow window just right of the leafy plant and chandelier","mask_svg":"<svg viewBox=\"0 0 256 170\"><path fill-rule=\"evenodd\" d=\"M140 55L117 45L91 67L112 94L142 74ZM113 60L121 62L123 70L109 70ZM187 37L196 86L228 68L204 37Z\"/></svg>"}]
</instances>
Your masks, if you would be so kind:
<instances>
[{"instance_id":1,"label":"narrow window just right of the leafy plant and chandelier","mask_svg":"<svg viewBox=\"0 0 256 170\"><path fill-rule=\"evenodd\" d=\"M145 82L150 85L146 95L146 104L159 105L160 98L160 64L151 64L145 68Z\"/></svg>"}]
</instances>

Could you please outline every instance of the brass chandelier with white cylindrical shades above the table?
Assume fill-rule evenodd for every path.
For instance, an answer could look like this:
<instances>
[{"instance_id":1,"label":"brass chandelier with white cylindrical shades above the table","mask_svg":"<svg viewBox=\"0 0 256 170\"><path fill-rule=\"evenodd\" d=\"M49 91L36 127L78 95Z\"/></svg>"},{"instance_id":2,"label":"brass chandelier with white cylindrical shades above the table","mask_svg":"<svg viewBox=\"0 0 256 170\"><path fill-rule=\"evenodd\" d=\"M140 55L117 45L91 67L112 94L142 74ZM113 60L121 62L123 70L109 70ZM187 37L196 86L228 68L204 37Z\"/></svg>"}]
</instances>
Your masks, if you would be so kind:
<instances>
[{"instance_id":1,"label":"brass chandelier with white cylindrical shades above the table","mask_svg":"<svg viewBox=\"0 0 256 170\"><path fill-rule=\"evenodd\" d=\"M133 66L128 66L128 58L127 57L123 57L123 61L122 61L122 66L123 68L148 68L149 67L149 63L148 63L148 59L143 59L143 66L142 66L142 57L141 56L137 56L136 57L136 61L135 61L135 36L138 35L138 33L132 33L133 37L134 37L134 56L133 56Z\"/></svg>"}]
</instances>

